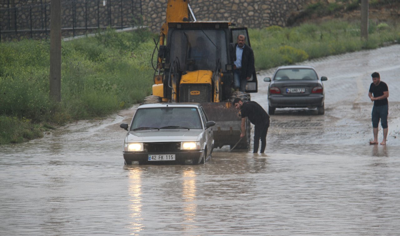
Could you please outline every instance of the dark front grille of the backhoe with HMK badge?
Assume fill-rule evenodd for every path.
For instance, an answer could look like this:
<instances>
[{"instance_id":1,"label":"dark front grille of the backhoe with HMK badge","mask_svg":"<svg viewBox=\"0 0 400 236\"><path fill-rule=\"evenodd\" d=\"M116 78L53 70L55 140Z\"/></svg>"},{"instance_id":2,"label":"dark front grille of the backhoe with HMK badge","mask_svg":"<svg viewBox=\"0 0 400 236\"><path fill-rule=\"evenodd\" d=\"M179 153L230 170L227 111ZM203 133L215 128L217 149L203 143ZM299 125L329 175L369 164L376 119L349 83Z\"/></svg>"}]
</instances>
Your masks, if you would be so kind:
<instances>
[{"instance_id":1,"label":"dark front grille of the backhoe with HMK badge","mask_svg":"<svg viewBox=\"0 0 400 236\"><path fill-rule=\"evenodd\" d=\"M179 87L180 102L202 103L211 101L211 85L184 84Z\"/></svg>"}]
</instances>

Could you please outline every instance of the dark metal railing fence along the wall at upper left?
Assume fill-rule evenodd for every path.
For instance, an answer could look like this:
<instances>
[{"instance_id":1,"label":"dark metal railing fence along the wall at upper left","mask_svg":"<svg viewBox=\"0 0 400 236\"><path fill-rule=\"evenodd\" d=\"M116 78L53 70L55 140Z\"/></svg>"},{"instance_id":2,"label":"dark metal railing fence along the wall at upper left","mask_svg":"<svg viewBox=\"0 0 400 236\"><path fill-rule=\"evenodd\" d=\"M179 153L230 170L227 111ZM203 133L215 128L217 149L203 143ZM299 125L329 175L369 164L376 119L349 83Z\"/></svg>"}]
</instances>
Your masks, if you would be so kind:
<instances>
[{"instance_id":1,"label":"dark metal railing fence along the wall at upper left","mask_svg":"<svg viewBox=\"0 0 400 236\"><path fill-rule=\"evenodd\" d=\"M61 2L62 36L76 36L100 28L138 26L142 0L68 0ZM0 9L0 40L48 38L50 4Z\"/></svg>"}]
</instances>

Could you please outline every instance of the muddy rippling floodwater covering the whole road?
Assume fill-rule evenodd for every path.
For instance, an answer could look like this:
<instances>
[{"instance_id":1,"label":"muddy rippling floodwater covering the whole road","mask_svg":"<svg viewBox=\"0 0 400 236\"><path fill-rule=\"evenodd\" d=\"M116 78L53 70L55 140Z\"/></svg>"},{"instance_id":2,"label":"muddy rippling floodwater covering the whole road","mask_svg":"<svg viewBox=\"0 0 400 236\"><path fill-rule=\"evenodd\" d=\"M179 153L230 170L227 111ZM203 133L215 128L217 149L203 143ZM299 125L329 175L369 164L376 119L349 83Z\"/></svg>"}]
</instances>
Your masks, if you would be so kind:
<instances>
[{"instance_id":1,"label":"muddy rippling floodwater covering the whole road","mask_svg":"<svg viewBox=\"0 0 400 236\"><path fill-rule=\"evenodd\" d=\"M277 109L266 154L214 149L204 165L123 165L132 109L0 147L1 235L398 236L400 45L303 65L328 77L325 115ZM389 86L372 138L370 74ZM252 100L268 108L259 75ZM379 139L382 139L380 130Z\"/></svg>"}]
</instances>

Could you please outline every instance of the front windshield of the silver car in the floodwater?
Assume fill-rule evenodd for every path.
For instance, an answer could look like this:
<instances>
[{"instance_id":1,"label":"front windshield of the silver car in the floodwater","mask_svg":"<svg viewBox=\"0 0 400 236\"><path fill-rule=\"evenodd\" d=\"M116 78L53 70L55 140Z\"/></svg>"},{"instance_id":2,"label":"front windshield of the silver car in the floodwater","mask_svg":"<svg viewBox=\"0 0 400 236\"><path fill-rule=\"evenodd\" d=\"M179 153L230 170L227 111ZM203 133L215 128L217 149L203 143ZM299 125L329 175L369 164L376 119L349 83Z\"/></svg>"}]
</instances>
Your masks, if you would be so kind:
<instances>
[{"instance_id":1,"label":"front windshield of the silver car in the floodwater","mask_svg":"<svg viewBox=\"0 0 400 236\"><path fill-rule=\"evenodd\" d=\"M199 112L194 107L156 107L138 109L130 130L202 129Z\"/></svg>"}]
</instances>

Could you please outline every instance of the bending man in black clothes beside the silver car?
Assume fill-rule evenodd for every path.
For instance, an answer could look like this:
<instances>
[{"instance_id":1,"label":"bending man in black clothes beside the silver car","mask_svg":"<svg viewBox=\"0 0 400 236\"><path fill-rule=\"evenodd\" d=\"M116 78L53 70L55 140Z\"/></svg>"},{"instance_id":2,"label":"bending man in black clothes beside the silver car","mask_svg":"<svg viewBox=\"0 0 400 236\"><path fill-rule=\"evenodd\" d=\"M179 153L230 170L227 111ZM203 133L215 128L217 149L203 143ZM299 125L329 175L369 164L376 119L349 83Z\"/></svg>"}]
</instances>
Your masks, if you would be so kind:
<instances>
[{"instance_id":1,"label":"bending man in black clothes beside the silver car","mask_svg":"<svg viewBox=\"0 0 400 236\"><path fill-rule=\"evenodd\" d=\"M254 125L254 149L253 153L258 152L258 145L260 144L261 139L261 149L260 153L264 153L267 141L267 132L268 127L270 127L270 116L266 113L266 111L256 102L254 101L245 101L243 102L240 98L235 98L233 100L233 105L236 109L240 109L240 113L242 114L242 133L240 137L244 137L246 135L246 117L250 120L250 122Z\"/></svg>"}]
</instances>

